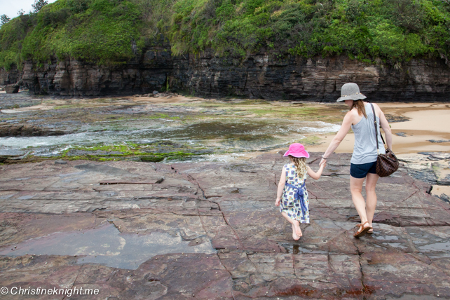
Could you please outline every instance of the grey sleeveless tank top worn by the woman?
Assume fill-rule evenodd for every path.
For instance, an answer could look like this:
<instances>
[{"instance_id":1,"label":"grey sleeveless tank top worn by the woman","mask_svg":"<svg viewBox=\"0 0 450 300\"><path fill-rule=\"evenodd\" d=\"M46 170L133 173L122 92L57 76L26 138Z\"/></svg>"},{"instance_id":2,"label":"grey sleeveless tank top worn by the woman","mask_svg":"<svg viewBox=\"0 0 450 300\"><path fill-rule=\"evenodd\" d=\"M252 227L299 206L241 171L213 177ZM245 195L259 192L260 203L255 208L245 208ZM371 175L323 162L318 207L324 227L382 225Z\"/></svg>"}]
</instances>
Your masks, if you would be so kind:
<instances>
[{"instance_id":1,"label":"grey sleeveless tank top worn by the woman","mask_svg":"<svg viewBox=\"0 0 450 300\"><path fill-rule=\"evenodd\" d=\"M373 163L378 156L376 151L375 140L375 126L374 126L374 113L370 104L367 103L364 108L366 109L367 118L362 117L361 121L352 125L352 130L355 132L355 146L353 146L353 155L350 163L360 165L362 163ZM378 144L381 154L386 154L383 141L380 134L380 118L376 117L376 125L378 126Z\"/></svg>"}]
</instances>

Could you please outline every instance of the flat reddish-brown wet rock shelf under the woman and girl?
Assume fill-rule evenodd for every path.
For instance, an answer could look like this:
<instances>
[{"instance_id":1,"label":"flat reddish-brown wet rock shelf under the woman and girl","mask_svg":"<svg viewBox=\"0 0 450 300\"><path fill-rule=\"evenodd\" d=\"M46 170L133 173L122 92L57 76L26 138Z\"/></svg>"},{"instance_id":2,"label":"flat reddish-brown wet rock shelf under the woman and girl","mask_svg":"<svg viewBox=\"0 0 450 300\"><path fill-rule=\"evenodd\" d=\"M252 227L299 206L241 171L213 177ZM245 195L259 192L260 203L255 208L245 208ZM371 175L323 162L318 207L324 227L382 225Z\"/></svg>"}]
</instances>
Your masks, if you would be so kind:
<instances>
[{"instance_id":1,"label":"flat reddish-brown wet rock shelf under the woman and girl","mask_svg":"<svg viewBox=\"0 0 450 300\"><path fill-rule=\"evenodd\" d=\"M349 162L334 154L308 180L297 242L274 206L280 154L0 165L1 285L100 290L89 299L449 298L450 204L402 166L379 180L374 234L355 239Z\"/></svg>"}]
</instances>

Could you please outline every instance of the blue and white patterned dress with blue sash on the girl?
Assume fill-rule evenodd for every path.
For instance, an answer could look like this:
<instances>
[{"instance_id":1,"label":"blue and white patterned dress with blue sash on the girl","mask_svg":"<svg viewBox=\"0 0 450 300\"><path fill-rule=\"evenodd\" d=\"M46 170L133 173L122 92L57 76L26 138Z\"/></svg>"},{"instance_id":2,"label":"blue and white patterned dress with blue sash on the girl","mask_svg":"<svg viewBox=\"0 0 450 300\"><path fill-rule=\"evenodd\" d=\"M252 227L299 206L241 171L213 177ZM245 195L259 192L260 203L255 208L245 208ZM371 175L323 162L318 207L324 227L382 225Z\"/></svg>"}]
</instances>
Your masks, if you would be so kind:
<instances>
[{"instance_id":1,"label":"blue and white patterned dress with blue sash on the girl","mask_svg":"<svg viewBox=\"0 0 450 300\"><path fill-rule=\"evenodd\" d=\"M300 223L309 223L309 200L306 191L306 174L299 177L294 163L285 165L286 183L280 202L280 212Z\"/></svg>"}]
</instances>

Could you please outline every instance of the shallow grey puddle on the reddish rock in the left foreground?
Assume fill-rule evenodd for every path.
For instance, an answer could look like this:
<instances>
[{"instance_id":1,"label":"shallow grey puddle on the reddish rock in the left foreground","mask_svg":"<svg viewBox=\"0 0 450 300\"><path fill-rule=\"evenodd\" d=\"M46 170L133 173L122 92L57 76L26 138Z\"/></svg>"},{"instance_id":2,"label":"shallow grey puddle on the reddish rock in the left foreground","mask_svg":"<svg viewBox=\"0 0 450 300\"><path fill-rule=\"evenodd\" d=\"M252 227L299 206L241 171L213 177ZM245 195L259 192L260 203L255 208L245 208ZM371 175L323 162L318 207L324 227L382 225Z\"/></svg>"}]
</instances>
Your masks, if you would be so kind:
<instances>
[{"instance_id":1,"label":"shallow grey puddle on the reddish rock in the left foreground","mask_svg":"<svg viewBox=\"0 0 450 300\"><path fill-rule=\"evenodd\" d=\"M149 235L120 233L112 224L98 229L55 233L27 240L14 250L2 250L0 255L18 257L32 255L76 255L78 263L95 263L114 268L135 270L144 261L168 253L216 253L209 240L189 246L182 237L153 232Z\"/></svg>"}]
</instances>

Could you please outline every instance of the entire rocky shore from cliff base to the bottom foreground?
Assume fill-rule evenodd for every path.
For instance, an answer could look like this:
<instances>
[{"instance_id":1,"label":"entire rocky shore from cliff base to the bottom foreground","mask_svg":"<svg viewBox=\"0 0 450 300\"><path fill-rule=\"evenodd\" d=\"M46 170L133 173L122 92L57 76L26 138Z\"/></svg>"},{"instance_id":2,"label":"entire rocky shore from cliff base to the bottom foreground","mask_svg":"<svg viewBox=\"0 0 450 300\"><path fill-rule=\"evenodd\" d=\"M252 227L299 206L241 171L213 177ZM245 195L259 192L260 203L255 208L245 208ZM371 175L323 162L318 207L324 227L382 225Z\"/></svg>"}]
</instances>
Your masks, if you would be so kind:
<instances>
[{"instance_id":1,"label":"entire rocky shore from cliff base to the bottom foreground","mask_svg":"<svg viewBox=\"0 0 450 300\"><path fill-rule=\"evenodd\" d=\"M274 206L286 163L277 152L293 137L323 147L319 136L334 135L346 112L337 104L0 96L8 289L99 289L90 299L450 297L445 151L399 156L400 170L377 185L374 234L360 239L350 154L333 154L322 178L307 182L311 224L296 242ZM411 109L386 109L389 118L409 121L402 105ZM412 109L423 107L446 109ZM401 130L407 137L394 138L416 134ZM424 145L445 149L445 132L433 138L444 142Z\"/></svg>"}]
</instances>

